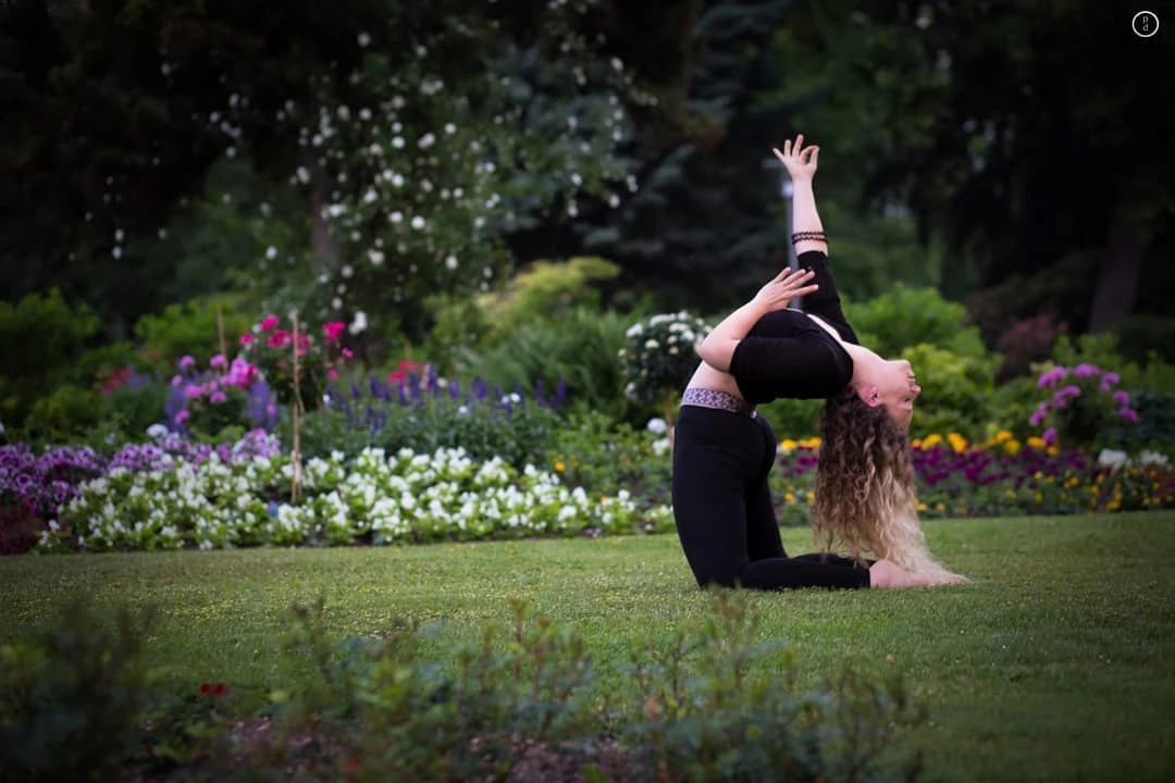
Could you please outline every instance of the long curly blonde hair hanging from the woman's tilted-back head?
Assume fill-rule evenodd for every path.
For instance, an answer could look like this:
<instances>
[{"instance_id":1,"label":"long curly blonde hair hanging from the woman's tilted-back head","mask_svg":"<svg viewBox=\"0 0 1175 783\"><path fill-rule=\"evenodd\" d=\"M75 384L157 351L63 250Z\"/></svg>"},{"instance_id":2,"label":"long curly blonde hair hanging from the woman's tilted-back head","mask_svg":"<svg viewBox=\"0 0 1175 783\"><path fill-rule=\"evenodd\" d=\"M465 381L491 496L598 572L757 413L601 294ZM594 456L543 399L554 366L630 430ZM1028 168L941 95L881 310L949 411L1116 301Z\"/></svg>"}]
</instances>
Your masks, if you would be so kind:
<instances>
[{"instance_id":1,"label":"long curly blonde hair hanging from the woman's tilted-back head","mask_svg":"<svg viewBox=\"0 0 1175 783\"><path fill-rule=\"evenodd\" d=\"M848 386L825 403L812 527L818 547L891 560L932 580L959 578L935 562L918 522L909 438L881 406Z\"/></svg>"}]
</instances>

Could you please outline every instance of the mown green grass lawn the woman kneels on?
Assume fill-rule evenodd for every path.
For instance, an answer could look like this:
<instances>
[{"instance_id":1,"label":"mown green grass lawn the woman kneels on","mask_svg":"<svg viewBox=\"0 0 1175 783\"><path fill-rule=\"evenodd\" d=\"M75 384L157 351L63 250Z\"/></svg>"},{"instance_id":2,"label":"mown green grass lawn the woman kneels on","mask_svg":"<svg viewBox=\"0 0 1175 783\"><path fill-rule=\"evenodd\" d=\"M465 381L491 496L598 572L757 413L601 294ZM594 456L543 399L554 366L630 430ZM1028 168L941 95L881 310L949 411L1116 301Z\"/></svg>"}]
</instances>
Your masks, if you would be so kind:
<instances>
[{"instance_id":1,"label":"mown green grass lawn the woman kneels on","mask_svg":"<svg viewBox=\"0 0 1175 783\"><path fill-rule=\"evenodd\" d=\"M909 737L928 779L1175 779L1175 513L926 529L972 583L756 594L763 637L786 640L812 680L846 663L905 673L928 709ZM790 552L808 545L806 531L785 531ZM396 616L444 617L446 633L472 635L522 596L575 627L604 671L638 640L711 612L672 535L28 555L0 559L0 642L52 619L70 595L153 605L152 664L177 681L258 690L280 686L289 607L318 595L340 636L378 633ZM624 687L619 675L604 682Z\"/></svg>"}]
</instances>

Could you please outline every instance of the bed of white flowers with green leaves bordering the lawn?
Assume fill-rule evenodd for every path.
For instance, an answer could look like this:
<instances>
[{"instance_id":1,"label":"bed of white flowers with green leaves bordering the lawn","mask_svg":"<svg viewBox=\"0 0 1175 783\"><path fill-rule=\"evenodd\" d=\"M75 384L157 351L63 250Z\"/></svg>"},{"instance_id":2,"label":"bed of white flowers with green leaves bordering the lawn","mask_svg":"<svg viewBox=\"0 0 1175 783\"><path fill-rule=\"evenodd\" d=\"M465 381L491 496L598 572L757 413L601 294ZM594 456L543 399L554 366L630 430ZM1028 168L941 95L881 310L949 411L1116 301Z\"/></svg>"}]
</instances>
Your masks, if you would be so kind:
<instances>
[{"instance_id":1,"label":"bed of white flowers with green leaves bordering the lawn","mask_svg":"<svg viewBox=\"0 0 1175 783\"><path fill-rule=\"evenodd\" d=\"M671 525L626 491L592 497L528 466L365 448L307 461L303 498L288 502L284 455L143 471L118 466L83 482L42 536L45 549L177 549L257 545L398 544L531 535L632 533Z\"/></svg>"}]
</instances>

